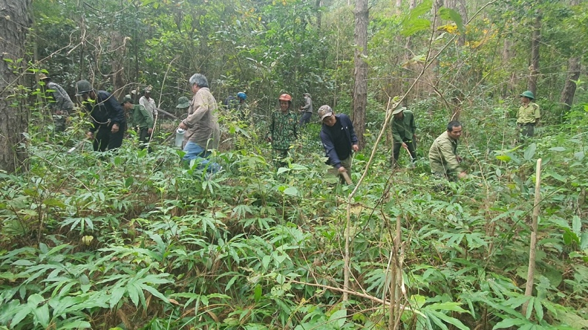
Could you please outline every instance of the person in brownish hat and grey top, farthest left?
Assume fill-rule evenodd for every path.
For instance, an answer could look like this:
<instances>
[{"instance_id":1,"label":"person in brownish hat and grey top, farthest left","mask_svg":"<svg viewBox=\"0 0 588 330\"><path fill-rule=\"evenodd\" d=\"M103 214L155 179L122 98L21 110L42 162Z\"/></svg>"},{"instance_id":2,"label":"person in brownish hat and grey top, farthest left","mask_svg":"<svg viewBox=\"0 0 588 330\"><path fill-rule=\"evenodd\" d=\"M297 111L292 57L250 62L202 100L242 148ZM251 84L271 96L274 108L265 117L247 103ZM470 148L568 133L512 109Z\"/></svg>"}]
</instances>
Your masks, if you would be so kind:
<instances>
[{"instance_id":1,"label":"person in brownish hat and grey top, farthest left","mask_svg":"<svg viewBox=\"0 0 588 330\"><path fill-rule=\"evenodd\" d=\"M51 77L46 76L45 73L39 75L39 82L42 85L42 90L50 93L46 96L52 98L52 100L49 100L47 106L52 112L55 132L64 132L67 128L66 118L74 110L74 102L69 98L65 89L52 82Z\"/></svg>"}]
</instances>

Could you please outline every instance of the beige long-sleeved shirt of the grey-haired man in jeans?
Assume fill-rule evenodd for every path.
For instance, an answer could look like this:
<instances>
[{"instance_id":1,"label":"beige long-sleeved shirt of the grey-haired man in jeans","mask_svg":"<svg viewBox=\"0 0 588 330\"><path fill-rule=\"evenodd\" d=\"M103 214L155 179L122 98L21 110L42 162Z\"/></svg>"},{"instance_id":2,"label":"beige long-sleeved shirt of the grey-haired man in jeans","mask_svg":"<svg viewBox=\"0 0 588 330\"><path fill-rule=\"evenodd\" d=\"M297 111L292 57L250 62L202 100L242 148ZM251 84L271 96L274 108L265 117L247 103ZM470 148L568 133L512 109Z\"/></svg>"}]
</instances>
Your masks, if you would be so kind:
<instances>
[{"instance_id":1,"label":"beige long-sleeved shirt of the grey-haired man in jeans","mask_svg":"<svg viewBox=\"0 0 588 330\"><path fill-rule=\"evenodd\" d=\"M184 133L184 144L193 142L203 149L216 149L220 143L220 127L216 119L218 105L208 87L201 87L194 94L188 108L188 117L182 120L188 130Z\"/></svg>"}]
</instances>

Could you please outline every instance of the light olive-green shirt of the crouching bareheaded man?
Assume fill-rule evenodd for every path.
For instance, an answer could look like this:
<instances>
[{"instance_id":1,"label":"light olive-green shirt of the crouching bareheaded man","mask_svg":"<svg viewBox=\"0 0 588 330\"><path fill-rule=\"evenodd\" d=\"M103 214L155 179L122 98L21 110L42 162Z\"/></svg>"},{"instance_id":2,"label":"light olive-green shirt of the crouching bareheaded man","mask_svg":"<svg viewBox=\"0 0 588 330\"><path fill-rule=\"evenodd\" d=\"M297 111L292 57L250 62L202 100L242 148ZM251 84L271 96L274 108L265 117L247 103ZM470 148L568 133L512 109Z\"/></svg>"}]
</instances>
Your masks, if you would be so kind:
<instances>
[{"instance_id":1,"label":"light olive-green shirt of the crouching bareheaded man","mask_svg":"<svg viewBox=\"0 0 588 330\"><path fill-rule=\"evenodd\" d=\"M429 165L432 173L452 174L462 171L457 161L457 140L452 139L447 131L431 145Z\"/></svg>"}]
</instances>

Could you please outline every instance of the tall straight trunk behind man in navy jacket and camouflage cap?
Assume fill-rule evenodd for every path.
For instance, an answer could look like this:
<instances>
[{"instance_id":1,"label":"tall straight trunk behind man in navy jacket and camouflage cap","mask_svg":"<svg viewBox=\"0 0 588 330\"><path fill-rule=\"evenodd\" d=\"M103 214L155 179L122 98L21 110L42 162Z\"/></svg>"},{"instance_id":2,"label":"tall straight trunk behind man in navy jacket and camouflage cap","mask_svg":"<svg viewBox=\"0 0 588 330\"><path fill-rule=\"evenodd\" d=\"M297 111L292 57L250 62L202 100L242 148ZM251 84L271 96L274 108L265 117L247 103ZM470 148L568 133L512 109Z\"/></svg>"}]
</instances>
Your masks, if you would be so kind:
<instances>
[{"instance_id":1,"label":"tall straight trunk behind man in navy jacket and camouflage cap","mask_svg":"<svg viewBox=\"0 0 588 330\"><path fill-rule=\"evenodd\" d=\"M355 2L355 85L353 86L353 127L359 146L365 146L366 105L368 104L368 0Z\"/></svg>"}]
</instances>

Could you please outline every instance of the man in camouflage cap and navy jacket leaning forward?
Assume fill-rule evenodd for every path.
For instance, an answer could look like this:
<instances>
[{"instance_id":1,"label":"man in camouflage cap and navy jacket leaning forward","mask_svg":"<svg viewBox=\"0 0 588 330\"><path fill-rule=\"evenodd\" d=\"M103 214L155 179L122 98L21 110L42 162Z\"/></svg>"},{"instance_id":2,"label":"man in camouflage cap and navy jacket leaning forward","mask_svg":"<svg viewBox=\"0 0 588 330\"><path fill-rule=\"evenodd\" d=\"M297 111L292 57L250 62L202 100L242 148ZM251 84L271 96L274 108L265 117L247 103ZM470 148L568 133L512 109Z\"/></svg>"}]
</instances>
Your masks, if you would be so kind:
<instances>
[{"instance_id":1,"label":"man in camouflage cap and navy jacket leaning forward","mask_svg":"<svg viewBox=\"0 0 588 330\"><path fill-rule=\"evenodd\" d=\"M347 172L351 176L351 156L359 150L358 136L353 129L353 123L347 115L335 115L328 105L319 107L319 120L322 122L320 140L325 148L328 163L333 166L330 174ZM343 177L341 177L343 181Z\"/></svg>"}]
</instances>

